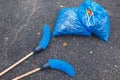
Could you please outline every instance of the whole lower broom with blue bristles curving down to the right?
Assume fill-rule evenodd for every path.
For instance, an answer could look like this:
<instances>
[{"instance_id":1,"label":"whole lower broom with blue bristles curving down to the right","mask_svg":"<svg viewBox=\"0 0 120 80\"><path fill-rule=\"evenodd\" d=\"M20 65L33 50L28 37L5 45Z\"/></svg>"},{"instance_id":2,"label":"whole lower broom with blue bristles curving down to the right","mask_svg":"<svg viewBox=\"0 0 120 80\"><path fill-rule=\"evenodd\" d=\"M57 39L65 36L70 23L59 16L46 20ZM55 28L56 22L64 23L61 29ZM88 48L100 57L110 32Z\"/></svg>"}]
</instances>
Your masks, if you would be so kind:
<instances>
[{"instance_id":1,"label":"whole lower broom with blue bristles curving down to the right","mask_svg":"<svg viewBox=\"0 0 120 80\"><path fill-rule=\"evenodd\" d=\"M63 60L50 59L47 63L43 64L40 68L36 68L30 72L27 72L25 74L18 76L12 80L19 80L23 77L26 77L30 74L37 72L37 71L46 70L46 69L57 69L57 70L61 70L65 73L67 73L68 75L70 75L72 77L75 76L75 70L72 65L70 65L69 63L67 63Z\"/></svg>"}]
</instances>

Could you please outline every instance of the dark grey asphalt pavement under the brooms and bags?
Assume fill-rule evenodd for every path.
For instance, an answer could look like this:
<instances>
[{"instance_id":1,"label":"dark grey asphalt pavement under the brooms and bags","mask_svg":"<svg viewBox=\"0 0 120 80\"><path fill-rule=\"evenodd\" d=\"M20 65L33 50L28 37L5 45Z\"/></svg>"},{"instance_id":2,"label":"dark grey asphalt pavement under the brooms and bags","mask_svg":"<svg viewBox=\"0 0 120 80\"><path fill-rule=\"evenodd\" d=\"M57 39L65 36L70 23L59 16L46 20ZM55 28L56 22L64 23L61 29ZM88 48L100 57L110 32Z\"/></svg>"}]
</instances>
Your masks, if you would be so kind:
<instances>
[{"instance_id":1,"label":"dark grey asphalt pavement under the brooms and bags","mask_svg":"<svg viewBox=\"0 0 120 80\"><path fill-rule=\"evenodd\" d=\"M42 26L54 29L62 7L79 6L83 0L0 0L0 71L18 61L38 44ZM60 36L49 47L15 67L0 80L35 69L51 58L65 60L76 70L70 77L58 70L45 70L21 80L120 80L120 0L95 0L110 14L111 34L108 43L96 36ZM63 47L63 43L68 46Z\"/></svg>"}]
</instances>

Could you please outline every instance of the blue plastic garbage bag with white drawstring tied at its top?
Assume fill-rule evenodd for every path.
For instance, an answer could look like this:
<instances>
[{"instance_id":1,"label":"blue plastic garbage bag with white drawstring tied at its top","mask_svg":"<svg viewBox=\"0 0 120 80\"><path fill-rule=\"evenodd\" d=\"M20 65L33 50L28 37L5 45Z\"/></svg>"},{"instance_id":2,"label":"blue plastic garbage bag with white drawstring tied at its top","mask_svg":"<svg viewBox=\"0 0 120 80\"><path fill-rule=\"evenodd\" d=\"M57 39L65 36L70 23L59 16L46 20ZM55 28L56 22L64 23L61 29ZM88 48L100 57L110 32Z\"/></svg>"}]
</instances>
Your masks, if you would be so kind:
<instances>
[{"instance_id":1,"label":"blue plastic garbage bag with white drawstring tied at its top","mask_svg":"<svg viewBox=\"0 0 120 80\"><path fill-rule=\"evenodd\" d=\"M92 12L91 15L87 10ZM104 41L108 41L110 34L110 19L107 11L92 0L85 0L79 7L79 19L86 29Z\"/></svg>"}]
</instances>

